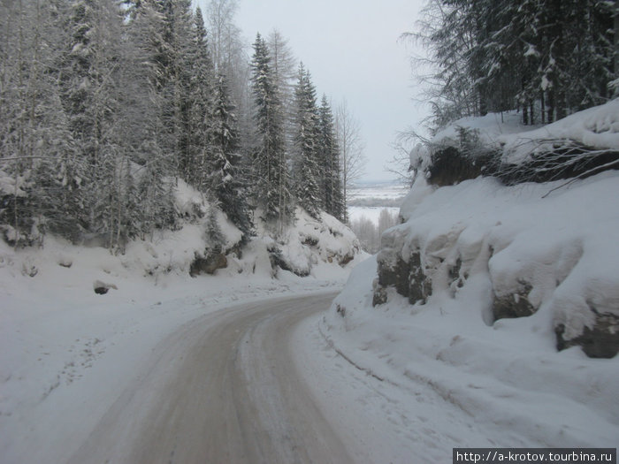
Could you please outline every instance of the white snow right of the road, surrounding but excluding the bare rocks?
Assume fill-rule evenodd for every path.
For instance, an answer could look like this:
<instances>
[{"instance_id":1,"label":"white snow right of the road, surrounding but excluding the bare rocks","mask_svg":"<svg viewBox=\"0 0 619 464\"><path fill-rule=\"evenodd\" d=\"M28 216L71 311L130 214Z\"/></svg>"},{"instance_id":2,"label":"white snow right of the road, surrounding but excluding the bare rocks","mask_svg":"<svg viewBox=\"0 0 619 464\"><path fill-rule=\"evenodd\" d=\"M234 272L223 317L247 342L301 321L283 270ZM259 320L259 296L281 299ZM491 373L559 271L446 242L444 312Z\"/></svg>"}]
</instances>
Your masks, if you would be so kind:
<instances>
[{"instance_id":1,"label":"white snow right of the road, surrounding but excluding the bare rocks","mask_svg":"<svg viewBox=\"0 0 619 464\"><path fill-rule=\"evenodd\" d=\"M434 280L424 305L410 305L390 288L388 302L372 307L376 258L353 270L320 330L374 378L384 398L365 392L366 400L379 409L379 421L398 424L392 444L409 453L394 461L447 462L455 446L619 445L619 358L590 359L580 347L557 352L554 335L554 318L583 323L574 307L579 299L618 300L618 186L619 174L602 174L538 208L549 186L469 181L426 197L401 228L428 233L428 247L442 237L437 253L453 251L456 241L461 251L478 245L480 252L483 242L501 237L503 249L495 250L490 270L483 252L470 255L477 264L467 268L462 288ZM555 264L562 272L572 247L583 247L581 261L555 290L542 278L553 288L535 289L537 313L488 323L490 273L516 283L553 274ZM552 261L560 255L561 262Z\"/></svg>"}]
</instances>

